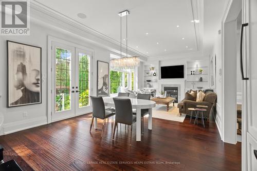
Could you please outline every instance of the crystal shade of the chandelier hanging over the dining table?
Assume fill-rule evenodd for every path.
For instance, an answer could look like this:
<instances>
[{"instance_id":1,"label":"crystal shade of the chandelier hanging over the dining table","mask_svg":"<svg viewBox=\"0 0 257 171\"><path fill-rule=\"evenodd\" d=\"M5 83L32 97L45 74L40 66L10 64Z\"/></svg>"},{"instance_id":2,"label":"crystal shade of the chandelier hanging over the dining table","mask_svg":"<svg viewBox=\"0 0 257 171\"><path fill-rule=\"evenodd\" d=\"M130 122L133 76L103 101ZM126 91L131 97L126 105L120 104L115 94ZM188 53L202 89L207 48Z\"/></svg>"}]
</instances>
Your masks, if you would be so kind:
<instances>
[{"instance_id":1,"label":"crystal shade of the chandelier hanging over the dining table","mask_svg":"<svg viewBox=\"0 0 257 171\"><path fill-rule=\"evenodd\" d=\"M112 59L110 61L111 69L115 70L133 70L139 66L140 60L137 56L123 57L118 59Z\"/></svg>"}]
</instances>

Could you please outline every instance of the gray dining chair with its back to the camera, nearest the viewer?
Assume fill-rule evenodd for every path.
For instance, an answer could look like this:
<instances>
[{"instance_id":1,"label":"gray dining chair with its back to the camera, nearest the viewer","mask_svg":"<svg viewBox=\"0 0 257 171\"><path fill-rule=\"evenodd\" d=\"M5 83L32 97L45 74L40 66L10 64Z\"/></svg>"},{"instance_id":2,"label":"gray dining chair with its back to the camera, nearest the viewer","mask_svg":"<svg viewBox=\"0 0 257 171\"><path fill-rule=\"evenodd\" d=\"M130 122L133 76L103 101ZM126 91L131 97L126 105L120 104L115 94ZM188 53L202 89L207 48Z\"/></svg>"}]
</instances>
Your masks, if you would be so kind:
<instances>
[{"instance_id":1,"label":"gray dining chair with its back to the camera, nearest the viewer","mask_svg":"<svg viewBox=\"0 0 257 171\"><path fill-rule=\"evenodd\" d=\"M114 124L114 133L113 140L115 136L115 130L118 126L118 123L123 123L126 125L131 125L131 133L130 133L130 145L132 138L132 124L135 123L137 117L133 115L132 112L132 104L130 99L119 99L113 98L115 104L115 124Z\"/></svg>"}]
</instances>

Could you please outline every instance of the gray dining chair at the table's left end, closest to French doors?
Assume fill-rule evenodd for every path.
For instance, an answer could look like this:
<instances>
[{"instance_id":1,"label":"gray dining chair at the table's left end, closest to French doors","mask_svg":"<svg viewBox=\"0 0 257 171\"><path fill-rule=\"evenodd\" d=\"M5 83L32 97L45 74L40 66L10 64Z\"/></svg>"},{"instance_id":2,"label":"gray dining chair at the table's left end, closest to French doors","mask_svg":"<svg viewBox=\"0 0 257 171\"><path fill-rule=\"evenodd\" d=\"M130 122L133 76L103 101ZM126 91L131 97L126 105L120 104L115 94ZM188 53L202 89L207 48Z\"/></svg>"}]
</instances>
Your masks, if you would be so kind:
<instances>
[{"instance_id":1,"label":"gray dining chair at the table's left end, closest to French doors","mask_svg":"<svg viewBox=\"0 0 257 171\"><path fill-rule=\"evenodd\" d=\"M92 129L94 118L103 119L102 136L104 131L105 119L115 115L115 112L105 110L104 102L102 97L90 96L93 105L93 117L90 124L90 132Z\"/></svg>"}]
</instances>

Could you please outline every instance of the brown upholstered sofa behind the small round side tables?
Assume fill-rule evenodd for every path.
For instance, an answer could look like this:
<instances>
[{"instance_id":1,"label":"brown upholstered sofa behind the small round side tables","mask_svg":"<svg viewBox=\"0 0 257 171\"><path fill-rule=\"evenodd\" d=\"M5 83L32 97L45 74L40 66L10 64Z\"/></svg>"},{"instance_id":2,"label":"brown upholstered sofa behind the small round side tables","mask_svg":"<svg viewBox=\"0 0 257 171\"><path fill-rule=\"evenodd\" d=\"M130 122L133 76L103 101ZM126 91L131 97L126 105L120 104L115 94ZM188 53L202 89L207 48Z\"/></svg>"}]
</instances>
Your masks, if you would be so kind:
<instances>
[{"instance_id":1,"label":"brown upholstered sofa behind the small round side tables","mask_svg":"<svg viewBox=\"0 0 257 171\"><path fill-rule=\"evenodd\" d=\"M189 93L192 90L189 91ZM194 100L188 100L188 99L183 99L180 103L178 103L177 108L179 109L179 114L186 114L186 115L191 115L191 111L188 110L188 108L196 108L196 105L206 105L208 106L207 109L207 116L209 118L211 113L215 113L216 111L216 102L217 102L217 94L208 91L205 93L205 97L203 101L194 101Z\"/></svg>"}]
</instances>

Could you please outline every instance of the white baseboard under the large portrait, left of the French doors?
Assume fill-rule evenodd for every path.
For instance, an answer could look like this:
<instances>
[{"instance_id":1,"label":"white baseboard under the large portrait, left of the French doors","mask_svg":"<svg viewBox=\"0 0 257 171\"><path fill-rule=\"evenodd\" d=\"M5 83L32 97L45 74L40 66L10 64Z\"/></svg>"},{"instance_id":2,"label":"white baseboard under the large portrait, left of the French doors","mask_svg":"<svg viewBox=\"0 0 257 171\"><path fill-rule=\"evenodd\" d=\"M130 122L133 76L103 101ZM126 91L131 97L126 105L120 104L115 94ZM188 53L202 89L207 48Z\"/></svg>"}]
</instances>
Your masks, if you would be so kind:
<instances>
[{"instance_id":1,"label":"white baseboard under the large portrait, left of the French doors","mask_svg":"<svg viewBox=\"0 0 257 171\"><path fill-rule=\"evenodd\" d=\"M17 122L6 123L2 126L3 135L11 134L11 133L22 131L22 130L27 130L32 127L41 126L44 124L47 124L46 116L17 121Z\"/></svg>"}]
</instances>

